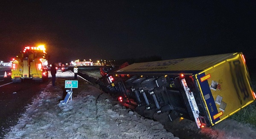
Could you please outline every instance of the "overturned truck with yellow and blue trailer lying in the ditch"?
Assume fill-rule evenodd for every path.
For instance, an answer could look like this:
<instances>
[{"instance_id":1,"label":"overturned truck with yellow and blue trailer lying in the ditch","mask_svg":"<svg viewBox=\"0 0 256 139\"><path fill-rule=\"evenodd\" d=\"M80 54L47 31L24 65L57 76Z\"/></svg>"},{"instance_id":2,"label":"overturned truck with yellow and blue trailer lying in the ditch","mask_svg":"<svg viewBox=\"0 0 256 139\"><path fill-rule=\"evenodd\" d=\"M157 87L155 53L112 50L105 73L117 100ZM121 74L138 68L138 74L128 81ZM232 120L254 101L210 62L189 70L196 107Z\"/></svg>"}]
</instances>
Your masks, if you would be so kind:
<instances>
[{"instance_id":1,"label":"overturned truck with yellow and blue trailer lying in the ditch","mask_svg":"<svg viewBox=\"0 0 256 139\"><path fill-rule=\"evenodd\" d=\"M102 76L102 90L138 114L183 117L198 128L221 122L256 98L242 53L135 63Z\"/></svg>"}]
</instances>

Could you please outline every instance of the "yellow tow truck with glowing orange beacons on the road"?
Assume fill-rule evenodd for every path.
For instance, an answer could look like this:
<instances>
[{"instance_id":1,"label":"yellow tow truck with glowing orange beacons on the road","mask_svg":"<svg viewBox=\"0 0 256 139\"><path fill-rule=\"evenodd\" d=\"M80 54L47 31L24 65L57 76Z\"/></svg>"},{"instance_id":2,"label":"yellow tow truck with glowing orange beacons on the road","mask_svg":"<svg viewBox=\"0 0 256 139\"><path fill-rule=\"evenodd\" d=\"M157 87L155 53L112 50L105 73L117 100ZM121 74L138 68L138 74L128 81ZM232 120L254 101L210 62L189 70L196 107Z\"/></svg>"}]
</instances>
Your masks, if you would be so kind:
<instances>
[{"instance_id":1,"label":"yellow tow truck with glowing orange beacons on the road","mask_svg":"<svg viewBox=\"0 0 256 139\"><path fill-rule=\"evenodd\" d=\"M48 62L45 50L44 45L25 47L12 61L12 81L18 83L26 78L46 81L48 79Z\"/></svg>"}]
</instances>

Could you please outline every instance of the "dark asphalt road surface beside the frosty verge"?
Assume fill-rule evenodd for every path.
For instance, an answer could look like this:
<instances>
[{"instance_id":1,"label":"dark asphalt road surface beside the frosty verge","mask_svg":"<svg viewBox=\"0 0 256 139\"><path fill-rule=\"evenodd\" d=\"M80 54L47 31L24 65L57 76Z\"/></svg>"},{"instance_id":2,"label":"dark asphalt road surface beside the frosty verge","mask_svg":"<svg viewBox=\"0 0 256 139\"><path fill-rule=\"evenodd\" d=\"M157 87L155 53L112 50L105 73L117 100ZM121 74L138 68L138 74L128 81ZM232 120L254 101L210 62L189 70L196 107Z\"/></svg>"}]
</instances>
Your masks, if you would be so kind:
<instances>
[{"instance_id":1,"label":"dark asphalt road surface beside the frosty verge","mask_svg":"<svg viewBox=\"0 0 256 139\"><path fill-rule=\"evenodd\" d=\"M11 77L0 77L0 138L16 125L20 115L26 110L41 91L49 83L49 80L40 83L32 80L24 80L21 83L10 83ZM7 85L2 86L5 83Z\"/></svg>"}]
</instances>

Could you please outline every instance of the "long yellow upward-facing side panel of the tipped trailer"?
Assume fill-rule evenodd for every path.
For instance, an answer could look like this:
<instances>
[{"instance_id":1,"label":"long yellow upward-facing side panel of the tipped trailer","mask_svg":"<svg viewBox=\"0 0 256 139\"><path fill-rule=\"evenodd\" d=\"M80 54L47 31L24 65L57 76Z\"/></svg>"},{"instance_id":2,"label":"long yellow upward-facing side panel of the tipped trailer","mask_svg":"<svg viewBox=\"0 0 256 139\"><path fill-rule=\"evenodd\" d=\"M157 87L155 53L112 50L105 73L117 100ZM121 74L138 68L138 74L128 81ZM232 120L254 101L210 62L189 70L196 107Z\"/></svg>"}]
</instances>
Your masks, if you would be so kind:
<instances>
[{"instance_id":1,"label":"long yellow upward-facing side panel of the tipped trailer","mask_svg":"<svg viewBox=\"0 0 256 139\"><path fill-rule=\"evenodd\" d=\"M144 63L134 63L114 74L140 74L140 73L159 73L159 74L195 74L201 72L215 64L221 63L227 59L234 58L240 53L227 53L211 56L198 56L191 58L179 58L163 61L152 61Z\"/></svg>"}]
</instances>

